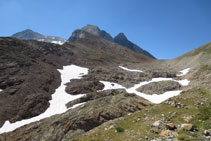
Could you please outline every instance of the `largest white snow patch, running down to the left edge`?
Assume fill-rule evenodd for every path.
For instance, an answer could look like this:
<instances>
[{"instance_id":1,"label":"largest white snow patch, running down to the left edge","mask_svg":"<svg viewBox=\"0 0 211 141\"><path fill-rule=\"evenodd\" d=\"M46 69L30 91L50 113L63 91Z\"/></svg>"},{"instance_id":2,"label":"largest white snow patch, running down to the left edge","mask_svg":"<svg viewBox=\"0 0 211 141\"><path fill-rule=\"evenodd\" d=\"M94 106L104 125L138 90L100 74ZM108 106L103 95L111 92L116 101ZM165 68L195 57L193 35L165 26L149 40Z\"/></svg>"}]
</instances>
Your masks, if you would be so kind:
<instances>
[{"instance_id":1,"label":"largest white snow patch, running down to the left edge","mask_svg":"<svg viewBox=\"0 0 211 141\"><path fill-rule=\"evenodd\" d=\"M65 92L65 84L69 82L71 79L81 79L83 75L88 74L88 69L87 68L82 68L79 66L75 65L70 65L70 66L64 66L62 70L58 71L61 73L61 85L56 89L55 93L52 94L52 100L50 100L50 106L48 109L40 114L39 116L30 118L30 119L25 119L21 121L17 121L15 123L10 123L9 121L6 121L2 128L0 128L0 134L5 133L5 132L10 132L13 131L21 126L24 126L26 124L39 121L41 119L56 115L56 114L61 114L66 112L68 109L66 107L66 104L72 100L75 100L77 98L80 98L84 96L84 94L79 94L79 95L70 95ZM79 103L71 107L71 109L80 106L84 103Z\"/></svg>"}]
</instances>

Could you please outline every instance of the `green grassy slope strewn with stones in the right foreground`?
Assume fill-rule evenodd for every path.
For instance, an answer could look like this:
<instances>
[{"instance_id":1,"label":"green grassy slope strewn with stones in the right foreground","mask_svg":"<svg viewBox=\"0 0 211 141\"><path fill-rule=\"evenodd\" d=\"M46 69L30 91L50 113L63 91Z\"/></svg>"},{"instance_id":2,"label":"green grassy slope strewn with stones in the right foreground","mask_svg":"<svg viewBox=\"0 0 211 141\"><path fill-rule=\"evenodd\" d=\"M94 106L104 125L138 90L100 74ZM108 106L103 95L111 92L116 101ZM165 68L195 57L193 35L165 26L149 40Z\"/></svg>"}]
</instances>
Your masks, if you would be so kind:
<instances>
[{"instance_id":1,"label":"green grassy slope strewn with stones in the right foreground","mask_svg":"<svg viewBox=\"0 0 211 141\"><path fill-rule=\"evenodd\" d=\"M197 105L197 102L203 102L203 105ZM206 100L208 99L208 100ZM211 128L211 92L206 89L189 90L184 92L180 97L174 98L179 103L186 105L188 108L176 108L175 106L163 103L147 107L145 110L135 114L127 115L114 121L107 122L94 130L86 133L80 138L73 139L76 141L87 140L106 140L111 138L115 141L122 140L144 140L145 136L149 139L159 137L159 134L150 132L151 125L154 121L165 119L173 122L175 125L185 123L184 117L191 115L193 123L198 129L196 135L187 131L179 131L178 139L180 140L197 140L205 129ZM208 101L208 102L205 102ZM175 116L171 116L176 112ZM140 119L140 120L138 120ZM114 128L109 129L109 127ZM106 130L106 128L108 130ZM123 130L119 130L123 129ZM160 132L160 131L158 131Z\"/></svg>"}]
</instances>

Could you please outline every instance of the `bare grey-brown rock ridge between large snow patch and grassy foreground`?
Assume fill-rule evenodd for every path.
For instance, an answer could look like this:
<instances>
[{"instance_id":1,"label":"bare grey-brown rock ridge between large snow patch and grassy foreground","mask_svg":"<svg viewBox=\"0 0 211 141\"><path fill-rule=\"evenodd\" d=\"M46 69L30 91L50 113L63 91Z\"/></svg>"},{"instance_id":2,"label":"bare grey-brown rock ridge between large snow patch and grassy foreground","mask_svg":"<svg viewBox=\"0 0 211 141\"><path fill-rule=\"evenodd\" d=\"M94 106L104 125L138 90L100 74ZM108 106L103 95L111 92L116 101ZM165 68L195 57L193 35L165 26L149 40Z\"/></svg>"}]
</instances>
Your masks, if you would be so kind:
<instances>
[{"instance_id":1,"label":"bare grey-brown rock ridge between large snow patch and grassy foreground","mask_svg":"<svg viewBox=\"0 0 211 141\"><path fill-rule=\"evenodd\" d=\"M97 93L100 95L102 93ZM124 90L104 92L85 105L69 110L64 114L31 123L11 133L1 134L0 140L70 140L94 127L150 105L148 101L127 94Z\"/></svg>"}]
</instances>

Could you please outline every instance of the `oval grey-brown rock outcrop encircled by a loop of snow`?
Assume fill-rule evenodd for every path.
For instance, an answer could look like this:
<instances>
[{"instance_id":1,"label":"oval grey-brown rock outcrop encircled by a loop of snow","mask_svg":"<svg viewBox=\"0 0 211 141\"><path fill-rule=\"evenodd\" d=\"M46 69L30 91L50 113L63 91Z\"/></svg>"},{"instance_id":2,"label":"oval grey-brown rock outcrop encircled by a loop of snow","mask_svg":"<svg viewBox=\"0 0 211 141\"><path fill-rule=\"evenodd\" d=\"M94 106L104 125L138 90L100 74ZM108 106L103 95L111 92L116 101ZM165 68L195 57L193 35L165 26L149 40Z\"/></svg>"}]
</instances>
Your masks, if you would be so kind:
<instances>
[{"instance_id":1,"label":"oval grey-brown rock outcrop encircled by a loop of snow","mask_svg":"<svg viewBox=\"0 0 211 141\"><path fill-rule=\"evenodd\" d=\"M175 81L161 81L152 82L147 85L143 85L137 90L146 94L163 94L167 91L179 90L181 85Z\"/></svg>"}]
</instances>

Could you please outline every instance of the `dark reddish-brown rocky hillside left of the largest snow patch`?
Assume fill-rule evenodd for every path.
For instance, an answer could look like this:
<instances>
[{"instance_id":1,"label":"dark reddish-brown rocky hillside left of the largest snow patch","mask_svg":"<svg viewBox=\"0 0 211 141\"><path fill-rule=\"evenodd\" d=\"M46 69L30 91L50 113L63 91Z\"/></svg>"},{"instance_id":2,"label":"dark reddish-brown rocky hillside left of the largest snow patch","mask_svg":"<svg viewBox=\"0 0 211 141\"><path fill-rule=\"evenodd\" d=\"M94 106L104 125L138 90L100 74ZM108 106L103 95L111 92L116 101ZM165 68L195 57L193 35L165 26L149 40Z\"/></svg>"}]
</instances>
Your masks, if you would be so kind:
<instances>
[{"instance_id":1,"label":"dark reddish-brown rocky hillside left of the largest snow patch","mask_svg":"<svg viewBox=\"0 0 211 141\"><path fill-rule=\"evenodd\" d=\"M55 44L0 38L0 127L43 113L71 56Z\"/></svg>"}]
</instances>

